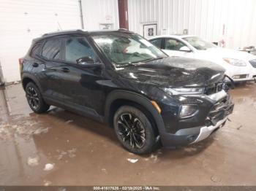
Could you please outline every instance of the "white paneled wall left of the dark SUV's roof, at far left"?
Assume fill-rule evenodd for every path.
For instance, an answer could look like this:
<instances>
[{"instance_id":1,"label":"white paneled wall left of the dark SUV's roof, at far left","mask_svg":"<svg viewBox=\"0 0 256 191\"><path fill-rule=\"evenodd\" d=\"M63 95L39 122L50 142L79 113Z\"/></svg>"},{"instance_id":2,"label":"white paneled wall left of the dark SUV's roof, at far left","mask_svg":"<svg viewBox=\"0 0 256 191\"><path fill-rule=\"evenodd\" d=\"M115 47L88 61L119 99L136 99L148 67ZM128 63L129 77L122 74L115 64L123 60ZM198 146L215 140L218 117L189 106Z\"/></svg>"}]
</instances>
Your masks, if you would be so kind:
<instances>
[{"instance_id":1,"label":"white paneled wall left of the dark SUV's roof, at far left","mask_svg":"<svg viewBox=\"0 0 256 191\"><path fill-rule=\"evenodd\" d=\"M18 58L49 31L80 28L77 0L0 0L0 63L5 82L20 79Z\"/></svg>"}]
</instances>

